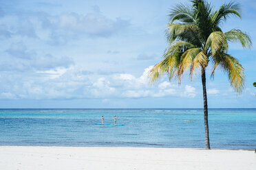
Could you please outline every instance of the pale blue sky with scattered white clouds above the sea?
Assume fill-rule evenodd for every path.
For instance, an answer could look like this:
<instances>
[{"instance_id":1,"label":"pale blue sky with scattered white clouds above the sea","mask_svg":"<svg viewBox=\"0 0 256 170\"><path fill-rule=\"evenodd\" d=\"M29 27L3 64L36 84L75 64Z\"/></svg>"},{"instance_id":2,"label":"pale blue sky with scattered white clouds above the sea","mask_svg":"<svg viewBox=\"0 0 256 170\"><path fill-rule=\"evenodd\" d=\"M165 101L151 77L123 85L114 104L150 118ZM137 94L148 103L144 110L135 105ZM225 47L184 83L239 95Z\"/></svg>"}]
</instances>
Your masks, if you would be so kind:
<instances>
[{"instance_id":1,"label":"pale blue sky with scattered white clouds above the sea","mask_svg":"<svg viewBox=\"0 0 256 170\"><path fill-rule=\"evenodd\" d=\"M211 1L215 9L224 2ZM237 1L242 19L228 18L253 40L231 44L244 66L241 95L217 69L206 70L209 108L256 108L256 1ZM0 108L203 108L200 73L182 84L148 71L162 60L174 0L0 1ZM211 66L209 66L211 67Z\"/></svg>"}]
</instances>

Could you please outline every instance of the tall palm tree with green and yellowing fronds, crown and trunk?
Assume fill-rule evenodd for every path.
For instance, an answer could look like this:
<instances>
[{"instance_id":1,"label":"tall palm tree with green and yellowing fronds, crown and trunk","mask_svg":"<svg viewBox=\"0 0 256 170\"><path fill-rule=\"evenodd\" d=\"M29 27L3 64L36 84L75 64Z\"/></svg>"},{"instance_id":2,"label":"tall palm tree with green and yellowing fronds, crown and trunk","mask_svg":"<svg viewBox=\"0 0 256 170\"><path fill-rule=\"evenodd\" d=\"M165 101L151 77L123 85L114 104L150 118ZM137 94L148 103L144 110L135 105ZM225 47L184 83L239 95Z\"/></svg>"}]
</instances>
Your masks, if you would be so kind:
<instances>
[{"instance_id":1,"label":"tall palm tree with green and yellowing fronds, crown and trunk","mask_svg":"<svg viewBox=\"0 0 256 170\"><path fill-rule=\"evenodd\" d=\"M151 83L167 74L169 80L174 75L180 84L184 72L189 69L191 80L193 74L200 71L204 98L204 130L205 148L210 149L208 106L206 95L206 67L213 64L211 76L218 67L228 75L231 86L241 93L244 88L244 68L239 61L228 54L228 42L240 42L242 47L250 48L252 42L248 34L239 29L222 32L220 23L228 16L238 16L239 4L224 3L220 9L204 0L193 0L191 5L176 5L169 14L167 24L167 40L169 46L163 55L163 60L153 66L149 73Z\"/></svg>"}]
</instances>

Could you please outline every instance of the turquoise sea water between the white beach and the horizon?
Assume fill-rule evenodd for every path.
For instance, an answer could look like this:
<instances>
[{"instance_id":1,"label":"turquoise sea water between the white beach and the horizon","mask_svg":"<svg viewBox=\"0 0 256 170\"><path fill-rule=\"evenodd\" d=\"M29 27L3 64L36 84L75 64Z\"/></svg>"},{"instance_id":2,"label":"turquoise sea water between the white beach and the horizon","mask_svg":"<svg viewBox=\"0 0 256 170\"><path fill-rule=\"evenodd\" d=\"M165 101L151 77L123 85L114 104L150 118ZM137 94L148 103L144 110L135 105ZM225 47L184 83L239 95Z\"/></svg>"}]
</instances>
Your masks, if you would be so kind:
<instances>
[{"instance_id":1,"label":"turquoise sea water between the white beach and the horizon","mask_svg":"<svg viewBox=\"0 0 256 170\"><path fill-rule=\"evenodd\" d=\"M210 109L209 132L212 148L255 149L256 109ZM0 109L0 145L204 148L203 110Z\"/></svg>"}]
</instances>

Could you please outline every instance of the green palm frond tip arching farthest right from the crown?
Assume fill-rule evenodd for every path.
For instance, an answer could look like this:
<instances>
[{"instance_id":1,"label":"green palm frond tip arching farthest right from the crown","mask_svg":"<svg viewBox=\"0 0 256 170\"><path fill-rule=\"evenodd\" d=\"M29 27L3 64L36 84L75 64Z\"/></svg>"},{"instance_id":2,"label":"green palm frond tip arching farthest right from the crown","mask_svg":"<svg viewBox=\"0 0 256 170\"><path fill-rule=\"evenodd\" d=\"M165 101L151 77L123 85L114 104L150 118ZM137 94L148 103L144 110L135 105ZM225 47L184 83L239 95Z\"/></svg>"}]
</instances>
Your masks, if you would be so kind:
<instances>
[{"instance_id":1,"label":"green palm frond tip arching farthest right from the crown","mask_svg":"<svg viewBox=\"0 0 256 170\"><path fill-rule=\"evenodd\" d=\"M231 29L231 31L225 32L224 37L230 42L240 42L242 47L248 49L250 49L253 44L250 36L239 29Z\"/></svg>"}]
</instances>

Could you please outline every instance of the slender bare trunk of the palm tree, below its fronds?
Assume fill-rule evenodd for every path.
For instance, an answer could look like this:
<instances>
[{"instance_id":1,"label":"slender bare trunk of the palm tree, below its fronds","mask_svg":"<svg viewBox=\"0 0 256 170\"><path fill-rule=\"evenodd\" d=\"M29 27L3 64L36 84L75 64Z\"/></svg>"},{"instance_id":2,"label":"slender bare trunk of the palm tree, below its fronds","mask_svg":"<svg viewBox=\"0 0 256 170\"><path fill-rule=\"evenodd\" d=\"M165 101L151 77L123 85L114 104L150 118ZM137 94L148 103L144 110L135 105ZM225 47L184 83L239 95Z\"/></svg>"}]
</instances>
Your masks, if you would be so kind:
<instances>
[{"instance_id":1,"label":"slender bare trunk of the palm tree, below its fronds","mask_svg":"<svg viewBox=\"0 0 256 170\"><path fill-rule=\"evenodd\" d=\"M211 149L211 148L210 148L210 140L209 140L208 106L207 106L207 95L206 95L206 77L205 77L205 69L202 69L202 88L203 88L203 96L204 96L205 149Z\"/></svg>"}]
</instances>

